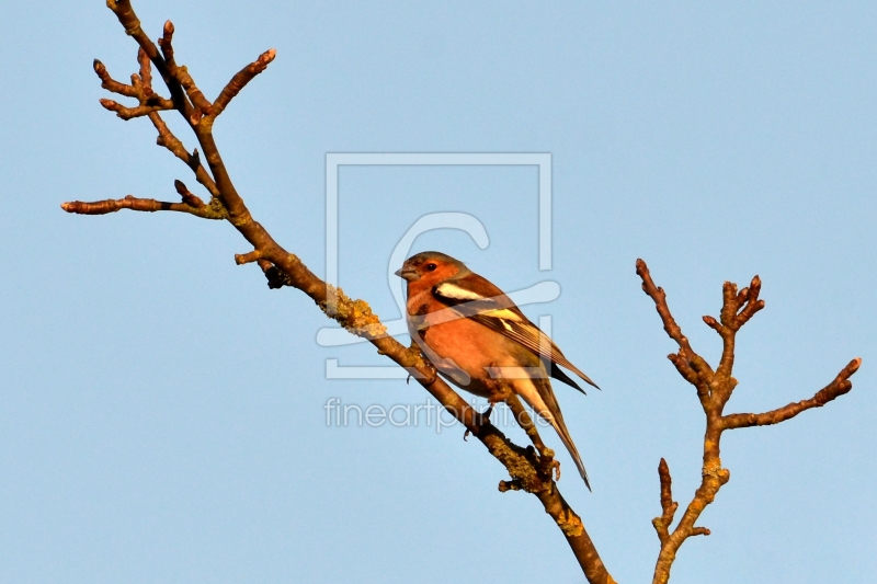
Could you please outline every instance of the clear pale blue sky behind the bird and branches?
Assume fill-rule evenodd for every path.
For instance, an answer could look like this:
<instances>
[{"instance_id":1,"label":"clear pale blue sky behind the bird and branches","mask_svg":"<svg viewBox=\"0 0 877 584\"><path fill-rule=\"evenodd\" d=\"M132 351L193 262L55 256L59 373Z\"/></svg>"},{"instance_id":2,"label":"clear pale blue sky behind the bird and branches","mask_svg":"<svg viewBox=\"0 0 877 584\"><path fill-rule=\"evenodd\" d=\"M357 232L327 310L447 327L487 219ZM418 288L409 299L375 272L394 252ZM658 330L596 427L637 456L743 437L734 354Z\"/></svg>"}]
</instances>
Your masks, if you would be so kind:
<instances>
[{"instance_id":1,"label":"clear pale blue sky behind the bird and branches","mask_svg":"<svg viewBox=\"0 0 877 584\"><path fill-rule=\"evenodd\" d=\"M767 307L739 337L728 411L811 397L852 357L853 392L726 435L731 481L675 583L877 576L877 7L866 2L135 3L208 95L277 58L217 122L251 210L324 270L327 152L548 152L554 268L538 270L537 172L344 168L344 289L398 318L389 255L418 239L504 289L603 391L558 387L594 492L560 486L619 582L650 579L660 457L686 503L703 414L634 262L643 257L704 356L721 283ZM103 2L11 3L0 21L0 582L581 580L533 497L459 427L327 426L331 398L424 404L401 380L333 380L303 295L270 291L228 225L172 214L75 217L59 204L195 190L151 126L103 111L91 70L135 71ZM178 136L192 147L178 121ZM201 192L198 192L201 194ZM509 433L522 439L516 428ZM551 435L549 443L557 443Z\"/></svg>"}]
</instances>

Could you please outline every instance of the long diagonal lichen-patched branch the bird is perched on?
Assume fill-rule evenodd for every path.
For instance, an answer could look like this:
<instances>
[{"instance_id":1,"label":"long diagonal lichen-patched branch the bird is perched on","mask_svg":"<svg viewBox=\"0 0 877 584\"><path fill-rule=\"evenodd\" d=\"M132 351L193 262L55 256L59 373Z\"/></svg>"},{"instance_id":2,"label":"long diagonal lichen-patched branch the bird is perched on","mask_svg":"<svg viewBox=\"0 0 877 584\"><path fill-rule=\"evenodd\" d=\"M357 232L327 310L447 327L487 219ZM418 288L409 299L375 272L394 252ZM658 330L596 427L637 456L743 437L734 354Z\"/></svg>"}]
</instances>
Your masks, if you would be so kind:
<instances>
[{"instance_id":1,"label":"long diagonal lichen-patched branch the bird is perched on","mask_svg":"<svg viewBox=\"0 0 877 584\"><path fill-rule=\"evenodd\" d=\"M107 0L107 7L115 13L125 32L133 36L140 47L139 76L133 76L130 88L107 82L101 72L102 82L107 83L111 91L119 90L132 93L130 96L149 100L151 90L151 73L149 62L161 75L171 94L173 107L189 122L198 146L207 161L209 174L201 165L197 150L194 153L183 148L164 125L157 111L146 115L159 133L157 142L168 148L178 158L183 160L195 175L213 195L209 204L198 205L201 199L189 193L185 185L175 183L178 193L183 197L183 203L164 203L153 199L139 199L132 196L118 201L101 201L96 203L71 202L61 207L69 213L98 215L114 213L122 208L133 210L176 210L189 213L198 217L209 217L208 209L220 209L223 217L243 236L252 245L252 251L236 256L238 263L257 262L269 278L269 286L291 286L308 295L327 316L338 321L352 334L368 340L381 355L386 355L399 366L412 374L421 386L430 392L454 417L459 421L472 435L475 435L497 458L509 472L511 480L502 481L500 490L522 490L536 495L545 512L554 519L567 539L576 559L591 584L613 584L615 581L603 565L600 554L591 541L581 518L572 511L557 489L551 477L553 466L544 465L544 457L536 455L533 448L522 448L513 444L496 426L485 420L469 404L457 394L442 378L437 376L433 366L418 352L403 346L392 337L386 336L386 328L381 324L368 304L364 300L349 298L343 290L334 288L318 278L293 253L283 249L272 236L250 215L243 199L235 188L234 183L219 154L214 140L212 127L215 117L221 113L228 103L240 90L274 59L274 50L264 53L255 62L239 71L226 85L217 98L216 104L210 104L197 90L197 85L185 67L176 64L172 47L173 25L166 23L159 48L149 39L140 26L130 2L128 0ZM96 71L95 66L95 71ZM109 76L107 76L109 77ZM134 78L137 78L134 81ZM125 94L125 93L123 93ZM141 103L143 105L156 105ZM163 105L163 104L161 104ZM117 110L114 110L117 111ZM329 299L332 298L331 309ZM514 486L509 486L514 485Z\"/></svg>"}]
</instances>

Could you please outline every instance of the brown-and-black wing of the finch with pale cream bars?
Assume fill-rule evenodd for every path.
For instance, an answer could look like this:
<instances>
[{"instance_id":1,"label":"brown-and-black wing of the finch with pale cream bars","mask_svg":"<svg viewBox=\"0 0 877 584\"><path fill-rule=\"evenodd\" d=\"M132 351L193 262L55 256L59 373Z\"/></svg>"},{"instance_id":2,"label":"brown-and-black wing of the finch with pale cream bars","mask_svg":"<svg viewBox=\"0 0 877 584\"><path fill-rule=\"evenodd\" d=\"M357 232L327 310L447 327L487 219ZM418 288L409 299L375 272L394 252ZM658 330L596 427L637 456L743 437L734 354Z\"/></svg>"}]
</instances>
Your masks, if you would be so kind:
<instances>
[{"instance_id":1,"label":"brown-and-black wing of the finch with pale cream bars","mask_svg":"<svg viewBox=\"0 0 877 584\"><path fill-rule=\"evenodd\" d=\"M544 360L549 362L551 366L548 371L551 377L581 391L581 388L557 367L560 365L581 377L585 382L597 387L563 356L563 353L548 335L533 324L511 298L478 274L470 273L462 278L447 279L434 286L432 293L438 300L453 306L466 318L515 341ZM584 392L582 391L582 393Z\"/></svg>"}]
</instances>

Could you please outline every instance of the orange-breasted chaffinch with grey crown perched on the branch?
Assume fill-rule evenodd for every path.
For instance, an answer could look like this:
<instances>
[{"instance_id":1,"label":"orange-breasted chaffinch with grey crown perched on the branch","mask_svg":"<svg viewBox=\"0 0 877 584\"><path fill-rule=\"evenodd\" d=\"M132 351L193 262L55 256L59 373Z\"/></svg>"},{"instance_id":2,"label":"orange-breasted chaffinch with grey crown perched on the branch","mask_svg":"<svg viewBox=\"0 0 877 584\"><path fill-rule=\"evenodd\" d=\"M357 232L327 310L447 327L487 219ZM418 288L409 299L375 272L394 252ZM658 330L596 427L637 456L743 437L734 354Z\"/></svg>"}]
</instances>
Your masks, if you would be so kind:
<instances>
[{"instance_id":1,"label":"orange-breasted chaffinch with grey crown perched on the branch","mask_svg":"<svg viewBox=\"0 0 877 584\"><path fill-rule=\"evenodd\" d=\"M560 369L565 367L599 389L597 385L572 365L511 298L463 262L428 251L406 260L396 275L407 282L408 331L438 374L488 399L496 391L491 381L502 377L555 428L591 490L548 376L584 393ZM511 375L503 375L510 370Z\"/></svg>"}]
</instances>

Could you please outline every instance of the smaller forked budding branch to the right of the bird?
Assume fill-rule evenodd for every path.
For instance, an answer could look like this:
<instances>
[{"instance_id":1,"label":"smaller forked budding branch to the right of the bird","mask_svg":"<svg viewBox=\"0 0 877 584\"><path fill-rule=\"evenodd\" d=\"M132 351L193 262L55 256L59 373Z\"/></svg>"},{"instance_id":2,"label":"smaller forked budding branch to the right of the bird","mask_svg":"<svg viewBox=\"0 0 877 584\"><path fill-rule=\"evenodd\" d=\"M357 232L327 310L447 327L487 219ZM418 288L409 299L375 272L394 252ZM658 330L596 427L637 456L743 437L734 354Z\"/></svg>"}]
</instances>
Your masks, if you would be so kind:
<instances>
[{"instance_id":1,"label":"smaller forked budding branch to the right of the bird","mask_svg":"<svg viewBox=\"0 0 877 584\"><path fill-rule=\"evenodd\" d=\"M657 287L651 279L651 274L642 260L637 260L637 274L642 279L642 290L654 301L658 314L664 324L668 335L675 341L680 351L670 355L670 359L682 377L697 388L706 416L706 432L704 433L704 466L701 469L701 485L695 491L685 513L675 529L670 531L670 525L676 512L676 503L672 500L670 469L664 459L658 467L661 480L661 508L660 517L652 519L652 525L658 531L661 551L654 565L652 584L665 584L670 580L670 570L676 558L676 552L686 539L694 536L708 536L709 529L695 526L704 509L715 501L719 489L726 484L731 473L721 467L720 442L726 430L747 427L753 425L777 424L810 408L819 408L829 401L848 392L853 385L848 378L858 369L862 359L853 359L844 367L834 380L820 390L813 398L798 403L790 403L785 408L763 414L731 414L722 416L722 409L731 398L737 387L737 379L731 376L734 360L734 342L737 332L749 320L764 308L764 300L759 299L761 279L752 278L749 288L737 291L737 285L726 282L722 286L722 307L720 320L704 317L704 322L719 333L722 339L722 353L719 367L714 371L706 360L701 357L683 336L682 330L673 319L667 305L667 295Z\"/></svg>"}]
</instances>

